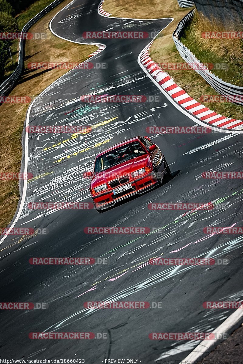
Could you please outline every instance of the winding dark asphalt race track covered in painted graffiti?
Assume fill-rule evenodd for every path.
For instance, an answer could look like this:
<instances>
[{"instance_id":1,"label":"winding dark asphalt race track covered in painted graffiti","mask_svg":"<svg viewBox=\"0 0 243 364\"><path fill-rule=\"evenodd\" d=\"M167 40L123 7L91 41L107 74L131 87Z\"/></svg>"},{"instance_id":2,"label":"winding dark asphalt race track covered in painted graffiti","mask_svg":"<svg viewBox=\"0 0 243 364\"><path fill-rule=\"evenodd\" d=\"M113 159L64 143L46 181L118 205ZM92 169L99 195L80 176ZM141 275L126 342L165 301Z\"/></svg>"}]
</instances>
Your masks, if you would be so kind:
<instances>
[{"instance_id":1,"label":"winding dark asphalt race track covered in painted graffiti","mask_svg":"<svg viewBox=\"0 0 243 364\"><path fill-rule=\"evenodd\" d=\"M193 126L148 78L137 62L151 39L84 40L85 31L158 33L171 21L100 16L99 1L77 0L54 17L52 31L67 40L102 43L92 63L105 69L72 70L47 88L29 109L29 125L92 125L86 134L23 133L30 179L15 227L47 228L48 234L7 236L0 245L1 302L47 302L46 310L1 310L0 358L138 359L138 363L182 360L199 341L150 340L151 332L210 332L234 311L203 308L204 301L237 301L242 291L240 234L204 234L205 226L241 226L241 179L203 179L204 171L242 171L242 135L146 134L149 126ZM169 16L169 14L168 14ZM175 24L176 27L176 24ZM43 62L44 60L40 60ZM54 60L55 61L55 60ZM78 62L78 60L72 60ZM144 103L84 103L81 95L158 96ZM96 128L96 127L101 128ZM89 179L95 156L115 143L147 135L169 163L173 178L144 195L97 213L90 210L31 210L29 202L91 202ZM28 138L28 144L27 140ZM28 157L28 159L27 159ZM25 169L26 171L26 169ZM21 185L23 189L23 185ZM223 209L153 211L151 202L210 201ZM160 233L86 234L88 226L145 226ZM107 264L47 265L32 257L102 257ZM227 258L227 265L153 266L152 257ZM161 308L87 309L86 301L162 302ZM107 339L32 340L30 332L107 333ZM160 360L158 360L160 359ZM162 360L163 359L163 360ZM162 361L161 361L162 360Z\"/></svg>"}]
</instances>

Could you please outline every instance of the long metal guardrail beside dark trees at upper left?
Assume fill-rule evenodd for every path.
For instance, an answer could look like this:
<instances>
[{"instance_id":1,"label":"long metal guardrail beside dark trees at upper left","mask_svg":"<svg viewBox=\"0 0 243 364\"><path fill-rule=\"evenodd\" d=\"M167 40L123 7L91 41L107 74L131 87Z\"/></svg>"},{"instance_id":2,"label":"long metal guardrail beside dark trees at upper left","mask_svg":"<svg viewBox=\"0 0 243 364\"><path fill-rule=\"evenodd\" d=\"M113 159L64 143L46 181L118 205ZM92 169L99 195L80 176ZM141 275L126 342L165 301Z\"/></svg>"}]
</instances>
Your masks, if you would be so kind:
<instances>
[{"instance_id":1,"label":"long metal guardrail beside dark trees at upper left","mask_svg":"<svg viewBox=\"0 0 243 364\"><path fill-rule=\"evenodd\" d=\"M55 0L53 3L48 5L42 11L40 11L34 18L32 18L26 25L24 25L21 33L26 33L28 29L32 27L39 19L41 19L44 15L46 15L49 11L54 9L58 4L62 3L63 0ZM24 67L24 44L25 40L20 39L19 41L19 60L16 69L13 71L11 76L7 78L1 85L0 85L0 97L5 96L8 94L9 91L12 90L16 81L19 79Z\"/></svg>"}]
</instances>

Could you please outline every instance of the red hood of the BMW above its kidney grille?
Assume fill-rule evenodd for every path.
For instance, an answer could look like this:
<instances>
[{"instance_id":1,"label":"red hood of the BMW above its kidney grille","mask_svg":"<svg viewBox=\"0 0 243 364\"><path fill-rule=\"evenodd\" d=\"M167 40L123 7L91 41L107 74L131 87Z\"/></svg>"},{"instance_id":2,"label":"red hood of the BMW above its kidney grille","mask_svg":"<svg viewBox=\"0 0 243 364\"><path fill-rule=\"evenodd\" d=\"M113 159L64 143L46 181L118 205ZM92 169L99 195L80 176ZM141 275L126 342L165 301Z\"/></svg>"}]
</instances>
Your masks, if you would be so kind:
<instances>
[{"instance_id":1,"label":"red hood of the BMW above its kidney grille","mask_svg":"<svg viewBox=\"0 0 243 364\"><path fill-rule=\"evenodd\" d=\"M138 169L144 168L148 165L149 155L140 155L136 158L129 159L129 161L125 161L120 163L114 167L106 169L103 172L99 172L98 175L94 175L91 181L91 187L97 187L104 183L108 183L116 178L121 178L126 174L137 171ZM118 175L118 177L117 177Z\"/></svg>"}]
</instances>

